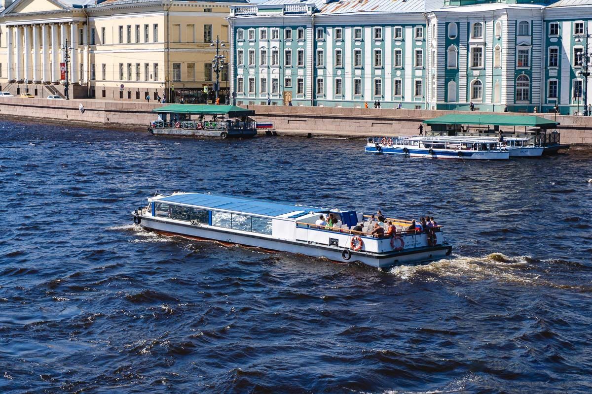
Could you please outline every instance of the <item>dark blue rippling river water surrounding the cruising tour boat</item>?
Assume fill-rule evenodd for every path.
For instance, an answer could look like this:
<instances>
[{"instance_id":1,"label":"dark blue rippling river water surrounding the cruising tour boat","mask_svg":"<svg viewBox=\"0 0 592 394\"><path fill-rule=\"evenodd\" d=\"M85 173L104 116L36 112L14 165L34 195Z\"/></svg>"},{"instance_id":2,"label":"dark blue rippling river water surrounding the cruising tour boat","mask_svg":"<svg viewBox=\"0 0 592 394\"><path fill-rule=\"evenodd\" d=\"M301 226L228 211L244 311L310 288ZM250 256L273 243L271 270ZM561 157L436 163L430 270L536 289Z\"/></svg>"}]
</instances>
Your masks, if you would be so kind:
<instances>
[{"instance_id":1,"label":"dark blue rippling river water surrounding the cruising tour boat","mask_svg":"<svg viewBox=\"0 0 592 394\"><path fill-rule=\"evenodd\" d=\"M0 393L592 392L590 153L0 133ZM157 236L129 216L156 190L429 214L453 255L379 271Z\"/></svg>"}]
</instances>

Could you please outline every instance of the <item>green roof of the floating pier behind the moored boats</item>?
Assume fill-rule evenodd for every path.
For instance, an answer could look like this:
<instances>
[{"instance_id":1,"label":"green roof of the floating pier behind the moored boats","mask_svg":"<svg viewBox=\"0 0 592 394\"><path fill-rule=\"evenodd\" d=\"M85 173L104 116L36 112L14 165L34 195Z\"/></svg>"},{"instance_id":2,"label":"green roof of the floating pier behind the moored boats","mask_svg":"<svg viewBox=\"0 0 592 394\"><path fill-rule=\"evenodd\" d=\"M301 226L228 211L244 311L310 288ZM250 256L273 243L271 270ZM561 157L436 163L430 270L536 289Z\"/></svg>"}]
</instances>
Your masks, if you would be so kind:
<instances>
[{"instance_id":1,"label":"green roof of the floating pier behind the moored boats","mask_svg":"<svg viewBox=\"0 0 592 394\"><path fill-rule=\"evenodd\" d=\"M492 126L532 126L532 127L554 127L559 122L550 121L541 116L533 115L495 115L484 114L456 114L439 116L438 118L423 121L426 125L492 125Z\"/></svg>"}]
</instances>

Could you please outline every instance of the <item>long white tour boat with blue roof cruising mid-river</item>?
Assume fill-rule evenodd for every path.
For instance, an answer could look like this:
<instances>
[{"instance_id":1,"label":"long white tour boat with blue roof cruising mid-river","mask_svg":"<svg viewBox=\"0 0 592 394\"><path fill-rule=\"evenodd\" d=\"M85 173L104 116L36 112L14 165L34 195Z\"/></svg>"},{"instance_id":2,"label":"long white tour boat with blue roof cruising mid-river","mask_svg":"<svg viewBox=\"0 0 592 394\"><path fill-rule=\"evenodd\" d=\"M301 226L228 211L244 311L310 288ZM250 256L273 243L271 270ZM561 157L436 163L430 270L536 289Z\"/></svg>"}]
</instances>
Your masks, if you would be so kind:
<instances>
[{"instance_id":1,"label":"long white tour boat with blue roof cruising mid-river","mask_svg":"<svg viewBox=\"0 0 592 394\"><path fill-rule=\"evenodd\" d=\"M332 213L333 227L317 225ZM442 226L408 230L411 222L392 220L394 235L372 237L370 216L356 211L270 203L202 193L159 194L132 212L134 223L164 235L254 246L267 250L359 261L373 267L429 262L450 255ZM361 224L362 231L353 227Z\"/></svg>"}]
</instances>

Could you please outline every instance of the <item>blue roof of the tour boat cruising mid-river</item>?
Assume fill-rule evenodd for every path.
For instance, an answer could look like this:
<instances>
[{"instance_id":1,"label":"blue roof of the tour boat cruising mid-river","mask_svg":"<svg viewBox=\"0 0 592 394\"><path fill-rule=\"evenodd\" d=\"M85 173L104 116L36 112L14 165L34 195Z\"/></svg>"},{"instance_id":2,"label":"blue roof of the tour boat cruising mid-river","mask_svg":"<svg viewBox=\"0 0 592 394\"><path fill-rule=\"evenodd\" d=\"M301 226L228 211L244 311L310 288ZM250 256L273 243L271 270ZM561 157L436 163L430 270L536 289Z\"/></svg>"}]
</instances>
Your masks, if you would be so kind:
<instances>
[{"instance_id":1,"label":"blue roof of the tour boat cruising mid-river","mask_svg":"<svg viewBox=\"0 0 592 394\"><path fill-rule=\"evenodd\" d=\"M203 193L173 194L172 196L157 198L157 200L173 204L178 203L194 205L211 209L223 209L228 211L251 213L265 216L281 216L296 211L327 211L326 209L321 208L304 207L292 204L269 203L267 201L251 200L250 198L217 196L215 194ZM297 216L292 215L290 217Z\"/></svg>"}]
</instances>

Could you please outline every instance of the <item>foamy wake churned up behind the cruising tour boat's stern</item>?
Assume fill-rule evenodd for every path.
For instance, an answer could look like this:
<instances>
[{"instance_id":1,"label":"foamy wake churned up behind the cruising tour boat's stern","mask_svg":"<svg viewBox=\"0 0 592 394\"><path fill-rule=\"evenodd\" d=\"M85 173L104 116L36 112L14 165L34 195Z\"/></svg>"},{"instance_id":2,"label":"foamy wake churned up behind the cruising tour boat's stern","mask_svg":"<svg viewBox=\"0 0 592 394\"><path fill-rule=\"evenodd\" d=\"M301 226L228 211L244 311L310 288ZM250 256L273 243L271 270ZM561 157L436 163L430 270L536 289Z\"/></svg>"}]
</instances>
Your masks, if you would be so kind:
<instances>
[{"instance_id":1,"label":"foamy wake churned up behind the cruising tour boat's stern","mask_svg":"<svg viewBox=\"0 0 592 394\"><path fill-rule=\"evenodd\" d=\"M549 275L546 265L554 262L553 260L538 261L530 256L510 257L502 253L491 253L480 258L455 256L452 259L442 259L427 265L396 266L388 272L408 281L416 279L446 281L462 278L478 282L493 279L524 286L549 286L580 292L592 291L590 285L558 284L545 278Z\"/></svg>"}]
</instances>

